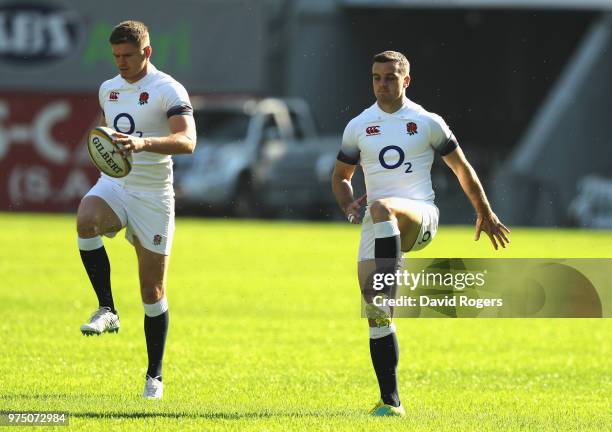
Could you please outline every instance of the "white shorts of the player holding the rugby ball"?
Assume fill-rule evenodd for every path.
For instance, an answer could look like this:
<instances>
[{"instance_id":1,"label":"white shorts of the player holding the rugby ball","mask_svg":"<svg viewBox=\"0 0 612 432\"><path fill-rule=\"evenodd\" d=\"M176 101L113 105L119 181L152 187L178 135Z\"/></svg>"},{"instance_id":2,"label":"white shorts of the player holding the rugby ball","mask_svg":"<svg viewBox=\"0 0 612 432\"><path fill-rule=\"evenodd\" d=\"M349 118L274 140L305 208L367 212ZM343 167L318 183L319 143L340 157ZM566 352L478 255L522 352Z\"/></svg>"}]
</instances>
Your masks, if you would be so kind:
<instances>
[{"instance_id":1,"label":"white shorts of the player holding the rugby ball","mask_svg":"<svg viewBox=\"0 0 612 432\"><path fill-rule=\"evenodd\" d=\"M125 189L105 178L85 196L102 198L115 212L125 227L125 238L134 244L134 236L146 249L170 255L174 237L174 195L172 192L140 192ZM114 237L117 233L107 233Z\"/></svg>"}]
</instances>

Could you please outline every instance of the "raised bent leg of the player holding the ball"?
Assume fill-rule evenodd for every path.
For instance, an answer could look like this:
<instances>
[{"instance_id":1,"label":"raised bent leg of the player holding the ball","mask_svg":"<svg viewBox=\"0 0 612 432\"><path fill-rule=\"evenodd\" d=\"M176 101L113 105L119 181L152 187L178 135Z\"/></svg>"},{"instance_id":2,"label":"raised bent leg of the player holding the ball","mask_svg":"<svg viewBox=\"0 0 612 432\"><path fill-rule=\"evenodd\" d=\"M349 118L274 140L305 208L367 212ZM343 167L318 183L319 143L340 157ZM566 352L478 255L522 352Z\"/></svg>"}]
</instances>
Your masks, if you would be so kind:
<instances>
[{"instance_id":1,"label":"raised bent leg of the player holding the ball","mask_svg":"<svg viewBox=\"0 0 612 432\"><path fill-rule=\"evenodd\" d=\"M81 326L84 335L119 331L110 280L110 262L102 243L102 234L121 230L121 221L111 207L98 196L85 196L77 214L78 246L85 271L96 296L98 309Z\"/></svg>"}]
</instances>

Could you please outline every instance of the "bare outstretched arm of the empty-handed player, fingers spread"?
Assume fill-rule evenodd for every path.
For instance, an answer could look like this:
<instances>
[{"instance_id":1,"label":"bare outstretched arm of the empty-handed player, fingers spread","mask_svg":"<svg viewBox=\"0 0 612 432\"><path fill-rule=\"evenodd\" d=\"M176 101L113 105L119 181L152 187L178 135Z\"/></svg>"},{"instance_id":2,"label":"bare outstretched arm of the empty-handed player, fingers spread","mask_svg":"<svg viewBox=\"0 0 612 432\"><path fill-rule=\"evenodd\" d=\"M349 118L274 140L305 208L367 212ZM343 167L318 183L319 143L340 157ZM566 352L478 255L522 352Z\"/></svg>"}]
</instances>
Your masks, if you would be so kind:
<instances>
[{"instance_id":1,"label":"bare outstretched arm of the empty-handed player, fingers spread","mask_svg":"<svg viewBox=\"0 0 612 432\"><path fill-rule=\"evenodd\" d=\"M472 203L474 210L476 210L475 240L478 240L480 233L484 231L491 239L495 249L498 248L498 243L505 248L506 244L510 243L507 236L510 230L493 213L478 175L466 159L461 147L456 147L451 153L442 156L442 159L453 170L461 188Z\"/></svg>"}]
</instances>

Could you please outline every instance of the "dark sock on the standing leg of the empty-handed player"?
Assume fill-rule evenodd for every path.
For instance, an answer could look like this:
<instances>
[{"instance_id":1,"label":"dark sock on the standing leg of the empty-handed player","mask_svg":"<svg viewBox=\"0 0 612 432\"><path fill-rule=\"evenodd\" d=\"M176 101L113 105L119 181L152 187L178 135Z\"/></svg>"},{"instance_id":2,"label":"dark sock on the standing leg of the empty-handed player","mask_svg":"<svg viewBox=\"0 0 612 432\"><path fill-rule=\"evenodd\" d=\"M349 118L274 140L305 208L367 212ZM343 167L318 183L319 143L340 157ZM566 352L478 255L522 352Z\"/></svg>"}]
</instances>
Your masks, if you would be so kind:
<instances>
[{"instance_id":1,"label":"dark sock on the standing leg of the empty-handed player","mask_svg":"<svg viewBox=\"0 0 612 432\"><path fill-rule=\"evenodd\" d=\"M370 339L370 355L380 387L380 397L388 405L399 406L397 391L399 347L395 333L379 339Z\"/></svg>"}]
</instances>

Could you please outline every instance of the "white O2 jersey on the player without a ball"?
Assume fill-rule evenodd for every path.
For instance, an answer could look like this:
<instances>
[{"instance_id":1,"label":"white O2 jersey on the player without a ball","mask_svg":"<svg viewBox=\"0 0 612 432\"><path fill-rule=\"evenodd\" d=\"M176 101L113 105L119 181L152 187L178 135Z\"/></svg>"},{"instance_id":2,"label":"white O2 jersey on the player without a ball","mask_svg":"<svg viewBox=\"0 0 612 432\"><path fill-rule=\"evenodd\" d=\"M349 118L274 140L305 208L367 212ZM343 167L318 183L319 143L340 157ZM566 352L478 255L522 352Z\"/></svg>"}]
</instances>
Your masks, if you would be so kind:
<instances>
[{"instance_id":1,"label":"white O2 jersey on the player without a ball","mask_svg":"<svg viewBox=\"0 0 612 432\"><path fill-rule=\"evenodd\" d=\"M433 201L431 164L457 140L442 117L408 99L393 114L377 103L352 119L344 130L338 160L361 164L368 204L381 198Z\"/></svg>"}]
</instances>

